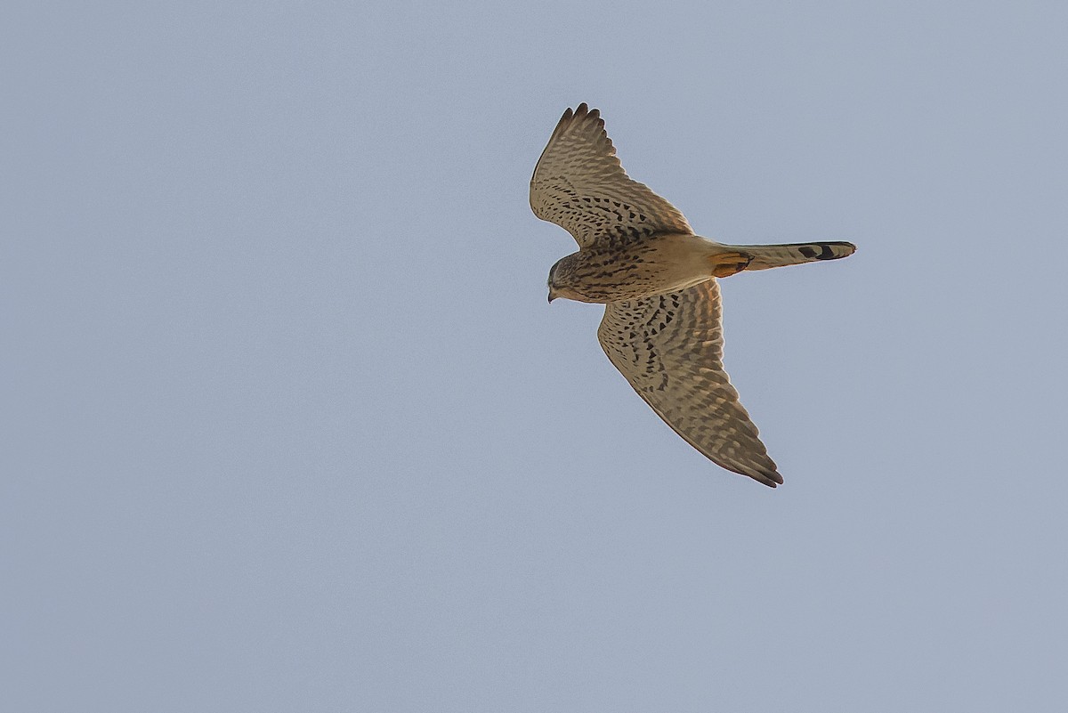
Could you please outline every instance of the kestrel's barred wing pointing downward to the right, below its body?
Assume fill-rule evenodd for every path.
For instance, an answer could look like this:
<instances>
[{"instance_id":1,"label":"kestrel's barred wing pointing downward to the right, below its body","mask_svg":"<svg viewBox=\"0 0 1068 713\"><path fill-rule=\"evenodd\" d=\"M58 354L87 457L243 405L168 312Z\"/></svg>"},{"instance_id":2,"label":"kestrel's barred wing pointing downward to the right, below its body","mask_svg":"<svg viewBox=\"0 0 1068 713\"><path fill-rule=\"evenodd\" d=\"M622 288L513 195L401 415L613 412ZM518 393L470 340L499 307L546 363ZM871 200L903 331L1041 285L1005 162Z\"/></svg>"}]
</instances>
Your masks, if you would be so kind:
<instances>
[{"instance_id":1,"label":"kestrel's barred wing pointing downward to the right, below its body","mask_svg":"<svg viewBox=\"0 0 1068 713\"><path fill-rule=\"evenodd\" d=\"M680 292L610 302L597 330L638 395L694 448L766 486L783 481L723 370L716 280Z\"/></svg>"}]
</instances>

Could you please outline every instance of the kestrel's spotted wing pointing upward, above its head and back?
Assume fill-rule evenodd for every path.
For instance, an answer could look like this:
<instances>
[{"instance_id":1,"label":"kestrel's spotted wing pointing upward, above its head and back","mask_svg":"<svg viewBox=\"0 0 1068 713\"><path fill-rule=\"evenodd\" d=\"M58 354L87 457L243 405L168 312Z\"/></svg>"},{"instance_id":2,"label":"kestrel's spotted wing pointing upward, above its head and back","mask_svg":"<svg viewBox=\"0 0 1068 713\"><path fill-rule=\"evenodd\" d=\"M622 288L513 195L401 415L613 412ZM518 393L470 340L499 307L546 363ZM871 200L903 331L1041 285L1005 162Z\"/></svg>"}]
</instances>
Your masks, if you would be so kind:
<instances>
[{"instance_id":1,"label":"kestrel's spotted wing pointing upward, above its head and back","mask_svg":"<svg viewBox=\"0 0 1068 713\"><path fill-rule=\"evenodd\" d=\"M693 232L675 206L627 176L600 112L584 104L564 112L541 152L531 177L531 208L580 248L601 236Z\"/></svg>"}]
</instances>

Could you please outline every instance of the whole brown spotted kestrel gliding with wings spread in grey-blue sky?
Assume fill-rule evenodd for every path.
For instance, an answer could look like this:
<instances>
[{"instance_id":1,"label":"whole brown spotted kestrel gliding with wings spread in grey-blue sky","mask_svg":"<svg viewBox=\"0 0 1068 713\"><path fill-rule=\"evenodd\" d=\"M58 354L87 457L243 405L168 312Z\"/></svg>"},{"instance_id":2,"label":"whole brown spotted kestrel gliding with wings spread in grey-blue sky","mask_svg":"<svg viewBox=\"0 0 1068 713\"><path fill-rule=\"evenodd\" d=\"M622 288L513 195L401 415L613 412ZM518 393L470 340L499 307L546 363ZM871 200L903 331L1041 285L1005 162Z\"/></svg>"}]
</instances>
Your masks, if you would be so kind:
<instances>
[{"instance_id":1,"label":"whole brown spotted kestrel gliding with wings spread in grey-blue sky","mask_svg":"<svg viewBox=\"0 0 1068 713\"><path fill-rule=\"evenodd\" d=\"M781 484L723 370L716 279L848 257L855 245L728 245L694 235L675 206L627 176L604 120L584 104L565 111L549 138L531 208L579 243L549 270L549 301L603 303L601 348L657 415L728 471Z\"/></svg>"}]
</instances>

